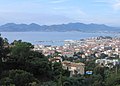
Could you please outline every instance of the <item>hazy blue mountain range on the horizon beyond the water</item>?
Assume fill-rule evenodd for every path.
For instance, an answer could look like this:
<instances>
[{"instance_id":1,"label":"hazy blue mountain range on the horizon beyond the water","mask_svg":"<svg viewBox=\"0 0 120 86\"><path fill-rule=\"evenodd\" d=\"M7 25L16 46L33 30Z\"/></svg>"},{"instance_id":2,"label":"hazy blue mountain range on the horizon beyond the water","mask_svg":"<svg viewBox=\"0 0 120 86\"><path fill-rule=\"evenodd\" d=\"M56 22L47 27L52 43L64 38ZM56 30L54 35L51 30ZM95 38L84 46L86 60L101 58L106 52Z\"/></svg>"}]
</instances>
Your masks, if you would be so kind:
<instances>
[{"instance_id":1,"label":"hazy blue mountain range on the horizon beyond the water","mask_svg":"<svg viewBox=\"0 0 120 86\"><path fill-rule=\"evenodd\" d=\"M0 32L66 32L66 31L80 31L80 32L120 32L119 27L110 27L104 24L84 24L84 23L68 23L60 25L38 25L35 23L15 24L7 23L0 26Z\"/></svg>"}]
</instances>

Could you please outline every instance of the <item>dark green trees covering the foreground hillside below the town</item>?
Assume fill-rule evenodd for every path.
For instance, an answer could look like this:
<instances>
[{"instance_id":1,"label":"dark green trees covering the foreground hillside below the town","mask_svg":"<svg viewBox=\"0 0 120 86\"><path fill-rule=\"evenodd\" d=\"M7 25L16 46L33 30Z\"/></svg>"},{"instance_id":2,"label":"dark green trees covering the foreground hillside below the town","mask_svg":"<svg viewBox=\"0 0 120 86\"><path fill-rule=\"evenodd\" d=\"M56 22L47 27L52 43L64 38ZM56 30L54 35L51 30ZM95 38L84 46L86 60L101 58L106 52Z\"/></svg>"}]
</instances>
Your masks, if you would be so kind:
<instances>
[{"instance_id":1,"label":"dark green trees covering the foreground hillside below the town","mask_svg":"<svg viewBox=\"0 0 120 86\"><path fill-rule=\"evenodd\" d=\"M69 77L70 72L62 69L62 64L48 61L52 56L45 57L42 53L33 51L33 45L22 40L14 41L9 45L7 39L0 37L0 86L119 86L120 73L115 69L106 69L97 66L95 59L82 59L84 52L75 53L74 57L64 57L63 60L82 61L87 71L92 75L76 75ZM94 57L94 55L92 55ZM92 57L91 56L91 57ZM101 54L100 58L105 58ZM2 58L6 61L2 62ZM119 70L119 65L117 66ZM110 72L112 71L112 72ZM119 70L120 71L120 70ZM119 72L118 71L118 72Z\"/></svg>"}]
</instances>

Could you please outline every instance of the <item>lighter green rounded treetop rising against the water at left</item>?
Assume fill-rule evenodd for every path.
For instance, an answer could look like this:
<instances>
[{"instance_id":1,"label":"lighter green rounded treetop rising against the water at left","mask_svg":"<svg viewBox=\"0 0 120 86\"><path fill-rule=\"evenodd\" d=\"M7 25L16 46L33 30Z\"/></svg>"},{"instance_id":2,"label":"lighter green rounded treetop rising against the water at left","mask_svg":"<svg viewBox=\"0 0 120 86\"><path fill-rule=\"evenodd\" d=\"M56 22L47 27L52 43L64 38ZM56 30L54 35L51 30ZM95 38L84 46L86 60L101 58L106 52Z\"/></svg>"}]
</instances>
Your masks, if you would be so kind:
<instances>
[{"instance_id":1,"label":"lighter green rounded treetop rising against the water at left","mask_svg":"<svg viewBox=\"0 0 120 86\"><path fill-rule=\"evenodd\" d=\"M18 62L25 62L32 48L31 43L16 41L11 48L11 57Z\"/></svg>"}]
</instances>

